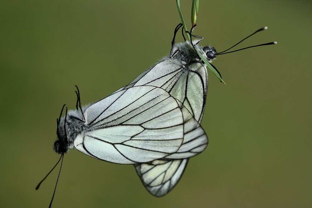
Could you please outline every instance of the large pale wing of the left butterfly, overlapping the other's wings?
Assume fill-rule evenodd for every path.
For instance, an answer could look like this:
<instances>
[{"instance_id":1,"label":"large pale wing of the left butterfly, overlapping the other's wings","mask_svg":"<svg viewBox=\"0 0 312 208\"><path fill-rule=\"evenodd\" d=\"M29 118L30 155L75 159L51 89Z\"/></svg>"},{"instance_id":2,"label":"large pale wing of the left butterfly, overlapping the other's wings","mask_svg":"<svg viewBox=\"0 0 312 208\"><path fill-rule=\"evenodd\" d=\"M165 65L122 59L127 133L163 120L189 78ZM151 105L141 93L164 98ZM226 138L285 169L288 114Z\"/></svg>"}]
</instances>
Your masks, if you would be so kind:
<instances>
[{"instance_id":1,"label":"large pale wing of the left butterfly, overlapping the other's wings","mask_svg":"<svg viewBox=\"0 0 312 208\"><path fill-rule=\"evenodd\" d=\"M120 90L84 111L75 147L91 157L119 164L151 162L180 148L183 114L165 90L137 86Z\"/></svg>"}]
</instances>

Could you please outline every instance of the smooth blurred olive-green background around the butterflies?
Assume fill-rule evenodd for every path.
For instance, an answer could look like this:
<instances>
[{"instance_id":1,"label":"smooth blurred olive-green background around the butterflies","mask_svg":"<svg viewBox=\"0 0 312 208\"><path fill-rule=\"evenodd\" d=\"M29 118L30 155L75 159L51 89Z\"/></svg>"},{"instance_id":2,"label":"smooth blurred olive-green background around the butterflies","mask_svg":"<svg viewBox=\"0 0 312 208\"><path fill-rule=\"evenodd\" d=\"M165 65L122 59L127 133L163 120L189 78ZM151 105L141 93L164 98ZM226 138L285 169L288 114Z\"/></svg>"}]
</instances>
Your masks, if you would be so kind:
<instances>
[{"instance_id":1,"label":"smooth blurred olive-green background around the butterflies","mask_svg":"<svg viewBox=\"0 0 312 208\"><path fill-rule=\"evenodd\" d=\"M167 55L180 22L175 0L1 1L0 204L48 207L60 155L63 104L98 101ZM190 27L191 1L181 0ZM65 155L53 207L312 207L311 1L199 2L193 34L223 51L213 62L202 126L207 149L156 198L132 165ZM180 33L179 33L180 34ZM182 41L178 35L178 41Z\"/></svg>"}]
</instances>

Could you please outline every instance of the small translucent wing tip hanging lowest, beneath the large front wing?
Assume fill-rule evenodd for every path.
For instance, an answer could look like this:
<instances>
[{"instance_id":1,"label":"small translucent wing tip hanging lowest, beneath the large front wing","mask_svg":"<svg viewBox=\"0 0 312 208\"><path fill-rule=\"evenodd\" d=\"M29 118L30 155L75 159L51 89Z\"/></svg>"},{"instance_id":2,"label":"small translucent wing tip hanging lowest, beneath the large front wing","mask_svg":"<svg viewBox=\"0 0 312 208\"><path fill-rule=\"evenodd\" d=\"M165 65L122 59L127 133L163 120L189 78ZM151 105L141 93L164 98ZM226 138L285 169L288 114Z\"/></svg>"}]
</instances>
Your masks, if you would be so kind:
<instances>
[{"instance_id":1,"label":"small translucent wing tip hanging lowest, beneath the large front wing","mask_svg":"<svg viewBox=\"0 0 312 208\"><path fill-rule=\"evenodd\" d=\"M151 163L135 164L134 167L143 185L154 196L164 196L178 183L188 159L155 160Z\"/></svg>"}]
</instances>

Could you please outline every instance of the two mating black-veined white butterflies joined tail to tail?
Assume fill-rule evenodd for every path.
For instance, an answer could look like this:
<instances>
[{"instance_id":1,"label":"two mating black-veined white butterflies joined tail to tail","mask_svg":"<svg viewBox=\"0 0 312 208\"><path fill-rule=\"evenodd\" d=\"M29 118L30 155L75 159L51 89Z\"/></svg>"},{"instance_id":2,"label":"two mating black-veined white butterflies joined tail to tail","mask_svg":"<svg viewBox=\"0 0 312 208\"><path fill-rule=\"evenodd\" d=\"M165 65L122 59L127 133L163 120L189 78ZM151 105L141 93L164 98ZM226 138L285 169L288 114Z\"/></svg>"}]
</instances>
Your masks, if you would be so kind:
<instances>
[{"instance_id":1,"label":"two mating black-veined white butterflies joined tail to tail","mask_svg":"<svg viewBox=\"0 0 312 208\"><path fill-rule=\"evenodd\" d=\"M191 37L201 39L175 44L181 26L175 28L170 55L129 85L83 107L77 88L76 109L66 108L65 116L61 117L64 105L57 120L58 140L54 150L62 154L61 158L76 148L107 162L134 164L146 189L158 197L177 184L189 158L208 144L200 126L208 75L195 48L208 62L225 52L217 53L211 46L198 45L203 38L188 31Z\"/></svg>"}]
</instances>

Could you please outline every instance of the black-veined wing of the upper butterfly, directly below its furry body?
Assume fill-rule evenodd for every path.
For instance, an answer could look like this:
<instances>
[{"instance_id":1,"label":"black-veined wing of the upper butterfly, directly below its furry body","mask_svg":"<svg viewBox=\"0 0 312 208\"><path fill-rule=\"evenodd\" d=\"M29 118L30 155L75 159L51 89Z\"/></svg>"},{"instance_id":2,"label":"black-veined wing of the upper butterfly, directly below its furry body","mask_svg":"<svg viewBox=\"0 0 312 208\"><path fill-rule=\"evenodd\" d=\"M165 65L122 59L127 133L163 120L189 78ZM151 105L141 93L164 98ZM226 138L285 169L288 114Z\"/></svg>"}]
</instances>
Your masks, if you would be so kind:
<instances>
[{"instance_id":1,"label":"black-veined wing of the upper butterfly, directly below its furry body","mask_svg":"<svg viewBox=\"0 0 312 208\"><path fill-rule=\"evenodd\" d=\"M178 60L165 58L121 89L139 85L160 87L181 101L200 123L205 109L207 83L207 69L201 63L183 65Z\"/></svg>"}]
</instances>

